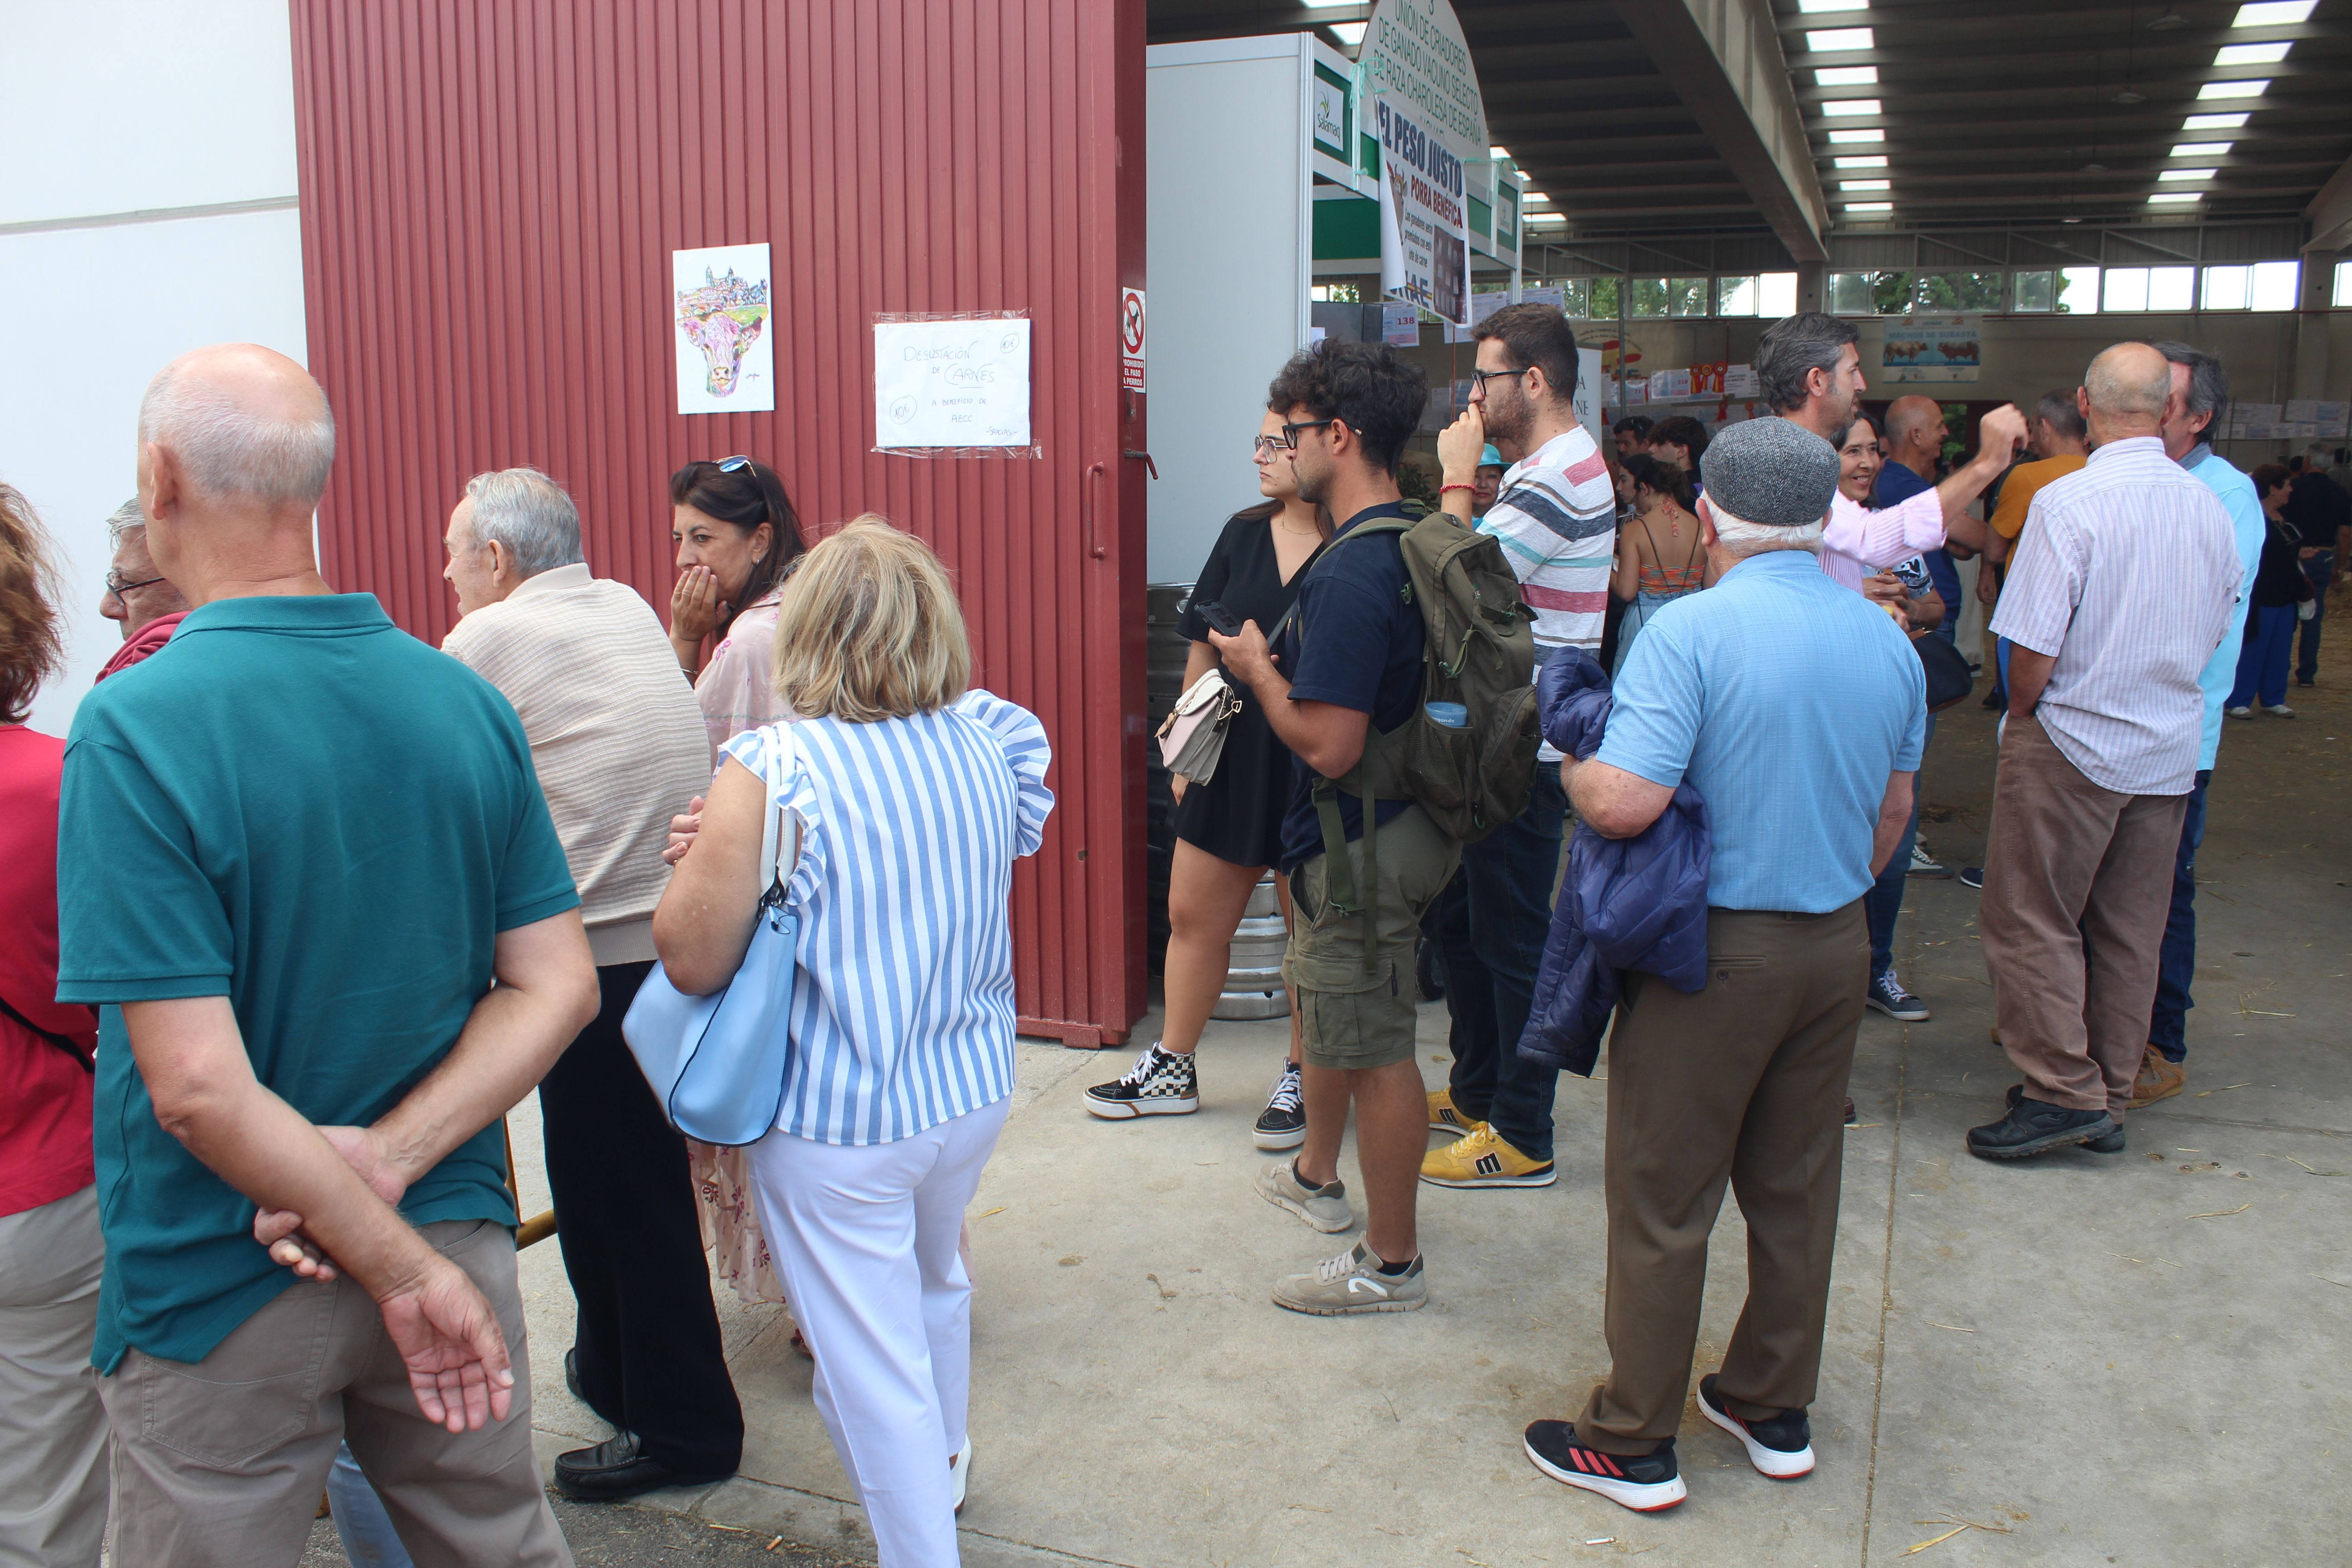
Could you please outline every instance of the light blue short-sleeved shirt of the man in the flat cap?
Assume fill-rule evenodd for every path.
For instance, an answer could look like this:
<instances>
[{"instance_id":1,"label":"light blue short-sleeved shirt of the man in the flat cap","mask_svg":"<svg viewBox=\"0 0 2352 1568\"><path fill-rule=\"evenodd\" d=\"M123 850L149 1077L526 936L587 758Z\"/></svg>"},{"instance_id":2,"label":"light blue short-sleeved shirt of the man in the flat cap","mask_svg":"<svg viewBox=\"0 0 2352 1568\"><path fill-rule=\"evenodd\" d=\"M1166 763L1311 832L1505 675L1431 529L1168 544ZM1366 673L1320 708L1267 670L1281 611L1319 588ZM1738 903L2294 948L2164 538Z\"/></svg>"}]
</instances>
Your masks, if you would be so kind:
<instances>
[{"instance_id":1,"label":"light blue short-sleeved shirt of the man in the flat cap","mask_svg":"<svg viewBox=\"0 0 2352 1568\"><path fill-rule=\"evenodd\" d=\"M1926 677L1893 618L1771 550L1642 623L1599 762L1705 797L1712 907L1825 914L1870 889L1886 776L1924 745Z\"/></svg>"}]
</instances>

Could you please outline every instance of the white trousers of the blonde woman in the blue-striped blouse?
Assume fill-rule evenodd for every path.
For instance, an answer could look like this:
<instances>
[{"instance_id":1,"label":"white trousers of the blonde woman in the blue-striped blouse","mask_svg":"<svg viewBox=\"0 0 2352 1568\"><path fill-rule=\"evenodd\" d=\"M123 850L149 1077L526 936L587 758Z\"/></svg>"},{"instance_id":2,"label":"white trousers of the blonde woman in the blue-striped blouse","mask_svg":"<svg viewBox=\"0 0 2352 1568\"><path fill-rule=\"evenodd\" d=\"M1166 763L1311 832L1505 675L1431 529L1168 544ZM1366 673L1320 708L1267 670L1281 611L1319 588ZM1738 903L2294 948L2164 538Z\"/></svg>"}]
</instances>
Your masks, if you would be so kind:
<instances>
[{"instance_id":1,"label":"white trousers of the blonde woman in the blue-striped blouse","mask_svg":"<svg viewBox=\"0 0 2352 1568\"><path fill-rule=\"evenodd\" d=\"M882 1568L955 1568L948 1460L971 1401L964 1206L1011 1100L868 1147L769 1133L760 1225L816 1356L816 1413L866 1505Z\"/></svg>"}]
</instances>

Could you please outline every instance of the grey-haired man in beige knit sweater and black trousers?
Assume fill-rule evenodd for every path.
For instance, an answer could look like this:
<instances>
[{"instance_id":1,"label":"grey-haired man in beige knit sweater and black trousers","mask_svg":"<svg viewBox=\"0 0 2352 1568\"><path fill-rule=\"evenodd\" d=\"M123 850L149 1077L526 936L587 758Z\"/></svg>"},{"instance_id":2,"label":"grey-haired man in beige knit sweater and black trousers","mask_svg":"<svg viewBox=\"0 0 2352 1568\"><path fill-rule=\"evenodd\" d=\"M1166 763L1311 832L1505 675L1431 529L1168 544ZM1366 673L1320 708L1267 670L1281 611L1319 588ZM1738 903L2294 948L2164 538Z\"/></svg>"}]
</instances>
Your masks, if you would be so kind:
<instances>
[{"instance_id":1,"label":"grey-haired man in beige knit sweater and black trousers","mask_svg":"<svg viewBox=\"0 0 2352 1568\"><path fill-rule=\"evenodd\" d=\"M602 1006L539 1086L555 1237L579 1300L564 1373L612 1439L555 1460L574 1497L717 1481L743 1455L687 1145L621 1018L654 969L673 811L710 788L710 736L654 611L581 559L572 496L534 468L466 484L442 541L461 621L442 651L506 693L581 889Z\"/></svg>"}]
</instances>

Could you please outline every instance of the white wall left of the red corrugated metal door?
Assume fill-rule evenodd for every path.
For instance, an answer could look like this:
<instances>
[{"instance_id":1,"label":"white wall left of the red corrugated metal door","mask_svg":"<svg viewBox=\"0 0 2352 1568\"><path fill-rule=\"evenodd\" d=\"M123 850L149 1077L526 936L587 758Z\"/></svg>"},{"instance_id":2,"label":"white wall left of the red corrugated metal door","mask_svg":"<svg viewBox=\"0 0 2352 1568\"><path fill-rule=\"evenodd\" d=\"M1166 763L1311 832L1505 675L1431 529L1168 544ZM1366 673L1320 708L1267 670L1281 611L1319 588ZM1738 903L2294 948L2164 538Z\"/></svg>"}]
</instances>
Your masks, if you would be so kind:
<instances>
[{"instance_id":1,"label":"white wall left of the red corrugated metal door","mask_svg":"<svg viewBox=\"0 0 2352 1568\"><path fill-rule=\"evenodd\" d=\"M64 557L71 663L33 726L66 733L120 644L106 515L148 378L205 343L306 357L294 54L285 0L0 0L0 480Z\"/></svg>"}]
</instances>

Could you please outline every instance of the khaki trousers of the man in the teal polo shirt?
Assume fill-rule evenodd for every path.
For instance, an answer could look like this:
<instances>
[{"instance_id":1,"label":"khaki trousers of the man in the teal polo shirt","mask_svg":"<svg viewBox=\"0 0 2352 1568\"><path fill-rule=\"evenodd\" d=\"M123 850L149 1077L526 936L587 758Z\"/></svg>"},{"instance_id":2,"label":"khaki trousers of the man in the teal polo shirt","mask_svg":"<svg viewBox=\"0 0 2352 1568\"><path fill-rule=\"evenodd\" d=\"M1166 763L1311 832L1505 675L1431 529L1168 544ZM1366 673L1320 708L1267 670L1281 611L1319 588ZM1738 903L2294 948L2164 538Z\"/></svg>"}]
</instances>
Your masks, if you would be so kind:
<instances>
[{"instance_id":1,"label":"khaki trousers of the man in the teal polo shirt","mask_svg":"<svg viewBox=\"0 0 2352 1568\"><path fill-rule=\"evenodd\" d=\"M499 1314L515 1366L506 1420L456 1436L435 1427L367 1291L294 1281L202 1361L134 1349L99 1380L115 1563L292 1568L336 1441L348 1441L416 1568L572 1568L532 1455L515 1239L489 1220L421 1229Z\"/></svg>"}]
</instances>

